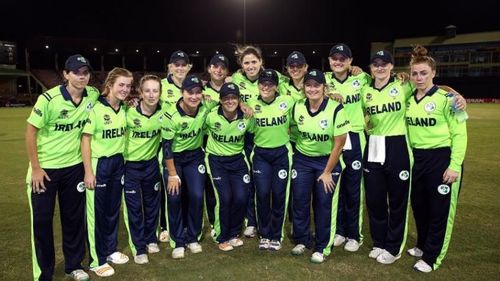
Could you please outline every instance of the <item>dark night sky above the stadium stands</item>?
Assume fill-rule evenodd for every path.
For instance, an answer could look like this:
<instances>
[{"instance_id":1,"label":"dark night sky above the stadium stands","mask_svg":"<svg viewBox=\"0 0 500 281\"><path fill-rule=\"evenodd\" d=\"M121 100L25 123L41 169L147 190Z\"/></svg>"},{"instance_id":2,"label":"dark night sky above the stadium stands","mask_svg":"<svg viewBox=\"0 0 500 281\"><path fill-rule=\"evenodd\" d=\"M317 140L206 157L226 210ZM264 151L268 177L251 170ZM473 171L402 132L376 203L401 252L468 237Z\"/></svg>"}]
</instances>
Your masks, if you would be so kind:
<instances>
[{"instance_id":1,"label":"dark night sky above the stadium stands","mask_svg":"<svg viewBox=\"0 0 500 281\"><path fill-rule=\"evenodd\" d=\"M363 0L367 1L367 0ZM241 42L243 0L2 0L0 40L36 36L125 42ZM496 0L246 0L247 42L345 42L367 54L372 41L500 30ZM71 3L71 4L70 4ZM241 34L241 33L240 33ZM240 35L241 36L241 35Z\"/></svg>"}]
</instances>

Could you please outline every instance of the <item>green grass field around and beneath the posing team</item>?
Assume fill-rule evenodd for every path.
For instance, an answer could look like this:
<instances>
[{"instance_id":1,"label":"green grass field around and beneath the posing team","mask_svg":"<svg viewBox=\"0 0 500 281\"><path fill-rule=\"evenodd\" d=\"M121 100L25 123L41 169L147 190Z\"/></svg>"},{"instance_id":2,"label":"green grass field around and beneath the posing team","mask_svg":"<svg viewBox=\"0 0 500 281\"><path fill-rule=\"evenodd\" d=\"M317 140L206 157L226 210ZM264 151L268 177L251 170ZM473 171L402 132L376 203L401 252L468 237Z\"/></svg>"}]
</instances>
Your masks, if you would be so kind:
<instances>
[{"instance_id":1,"label":"green grass field around and beneath the posing team","mask_svg":"<svg viewBox=\"0 0 500 281\"><path fill-rule=\"evenodd\" d=\"M354 254L335 249L321 265L309 262L310 253L291 256L286 239L279 252L259 252L257 240L245 240L235 251L223 253L210 239L202 241L203 253L188 253L183 260L170 258L170 249L150 255L150 263L133 261L115 266L107 280L500 280L500 105L469 105L469 146L463 189L459 198L451 246L442 267L431 273L413 271L414 258L406 254L393 265L368 258L371 241L365 218L365 243ZM32 279L30 219L25 177L28 160L24 148L28 108L0 109L0 280ZM56 210L57 212L57 210ZM365 214L366 217L366 214ZM54 217L56 270L54 280L64 277L59 216ZM119 247L130 255L123 222ZM208 229L205 229L205 233ZM410 220L407 247L415 243ZM94 280L99 279L91 274Z\"/></svg>"}]
</instances>

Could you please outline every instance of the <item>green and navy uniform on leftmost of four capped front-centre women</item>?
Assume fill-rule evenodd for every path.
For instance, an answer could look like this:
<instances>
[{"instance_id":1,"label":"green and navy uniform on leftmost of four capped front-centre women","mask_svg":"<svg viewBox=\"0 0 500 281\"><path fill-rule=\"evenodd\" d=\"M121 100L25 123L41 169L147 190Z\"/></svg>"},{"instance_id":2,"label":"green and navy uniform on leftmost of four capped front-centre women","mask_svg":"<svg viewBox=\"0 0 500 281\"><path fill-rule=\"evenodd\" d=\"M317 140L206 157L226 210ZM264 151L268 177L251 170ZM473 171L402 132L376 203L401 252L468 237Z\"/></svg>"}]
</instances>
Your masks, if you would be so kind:
<instances>
[{"instance_id":1,"label":"green and navy uniform on leftmost of four capped front-centre women","mask_svg":"<svg viewBox=\"0 0 500 281\"><path fill-rule=\"evenodd\" d=\"M172 248L184 247L201 238L206 176L202 149L203 126L213 107L213 103L201 103L196 114L190 116L181 108L179 101L167 109L163 116L163 142L171 143L176 172L182 182L179 194L167 193L167 227ZM163 152L165 154L165 147ZM168 172L165 171L163 175L168 177ZM168 182L166 179L164 181ZM183 196L187 200L183 200ZM186 203L188 206L183 206ZM187 212L187 216L183 216L183 212ZM184 227L187 232L184 232Z\"/></svg>"}]
</instances>

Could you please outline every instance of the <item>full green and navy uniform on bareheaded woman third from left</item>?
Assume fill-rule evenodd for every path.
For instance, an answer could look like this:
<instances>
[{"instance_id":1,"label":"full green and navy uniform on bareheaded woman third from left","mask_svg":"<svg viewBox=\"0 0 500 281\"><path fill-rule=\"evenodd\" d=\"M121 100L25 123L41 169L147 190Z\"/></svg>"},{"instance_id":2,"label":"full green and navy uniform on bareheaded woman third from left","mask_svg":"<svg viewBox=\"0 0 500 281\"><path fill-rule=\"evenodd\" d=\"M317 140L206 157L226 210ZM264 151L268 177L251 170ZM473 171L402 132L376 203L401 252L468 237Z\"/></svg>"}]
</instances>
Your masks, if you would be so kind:
<instances>
[{"instance_id":1,"label":"full green and navy uniform on bareheaded woman third from left","mask_svg":"<svg viewBox=\"0 0 500 281\"><path fill-rule=\"evenodd\" d=\"M146 115L141 106L127 110L125 143L125 225L134 256L146 254L146 245L157 243L161 175L158 151L163 111Z\"/></svg>"}]
</instances>

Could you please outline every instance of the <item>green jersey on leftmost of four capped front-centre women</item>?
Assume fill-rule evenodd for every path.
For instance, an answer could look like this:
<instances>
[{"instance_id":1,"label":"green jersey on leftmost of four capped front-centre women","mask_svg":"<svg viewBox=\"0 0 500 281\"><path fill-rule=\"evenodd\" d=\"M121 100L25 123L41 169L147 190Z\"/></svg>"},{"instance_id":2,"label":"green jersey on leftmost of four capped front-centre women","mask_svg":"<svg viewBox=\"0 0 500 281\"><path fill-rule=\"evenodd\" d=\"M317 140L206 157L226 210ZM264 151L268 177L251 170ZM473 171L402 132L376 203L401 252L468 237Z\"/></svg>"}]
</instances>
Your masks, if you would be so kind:
<instances>
[{"instance_id":1,"label":"green jersey on leftmost of four capped front-centre women","mask_svg":"<svg viewBox=\"0 0 500 281\"><path fill-rule=\"evenodd\" d=\"M180 102L180 101L179 101ZM187 115L177 102L163 114L162 138L172 140L172 152L195 150L203 143L203 127L214 102L203 102L195 116Z\"/></svg>"}]
</instances>

